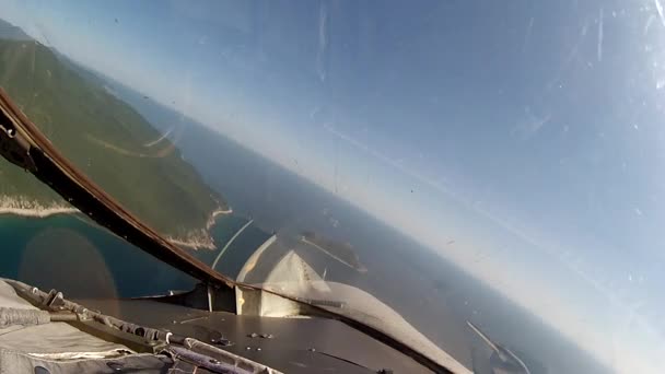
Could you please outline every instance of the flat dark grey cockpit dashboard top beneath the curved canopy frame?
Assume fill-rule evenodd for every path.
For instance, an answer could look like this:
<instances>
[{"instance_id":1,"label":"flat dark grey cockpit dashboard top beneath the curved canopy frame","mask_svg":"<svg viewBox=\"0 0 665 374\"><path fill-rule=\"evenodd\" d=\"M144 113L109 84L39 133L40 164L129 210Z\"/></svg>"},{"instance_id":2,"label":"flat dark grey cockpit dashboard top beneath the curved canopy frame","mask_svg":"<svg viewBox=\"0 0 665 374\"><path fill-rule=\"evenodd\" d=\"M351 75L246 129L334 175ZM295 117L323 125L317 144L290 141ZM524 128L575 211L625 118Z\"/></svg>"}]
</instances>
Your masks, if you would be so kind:
<instances>
[{"instance_id":1,"label":"flat dark grey cockpit dashboard top beneath the curved canopy frame","mask_svg":"<svg viewBox=\"0 0 665 374\"><path fill-rule=\"evenodd\" d=\"M149 300L78 302L118 318L206 342L221 336L233 343L222 347L228 351L285 373L371 373L380 369L430 373L412 359L337 320L209 314ZM250 337L253 334L256 337Z\"/></svg>"}]
</instances>

